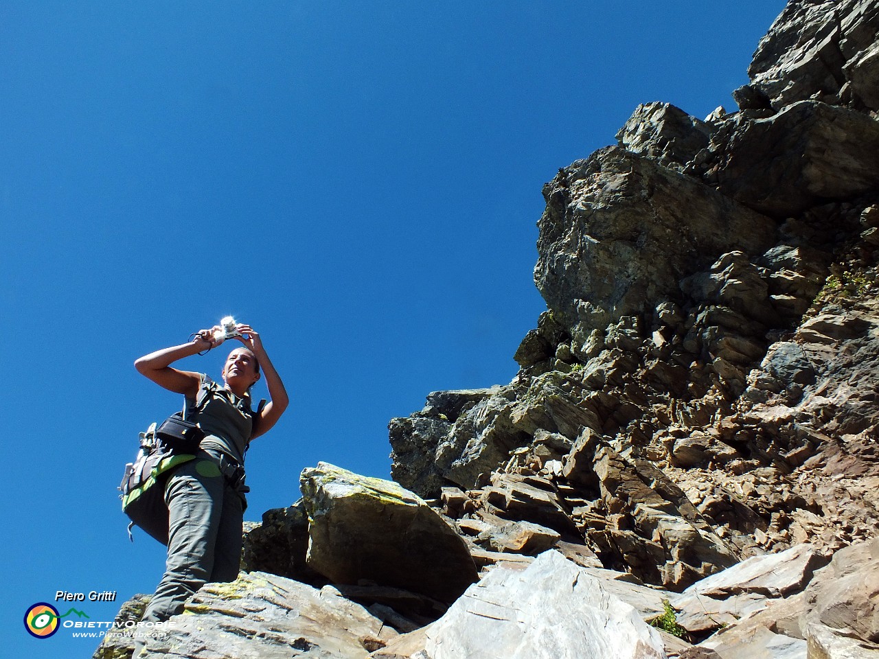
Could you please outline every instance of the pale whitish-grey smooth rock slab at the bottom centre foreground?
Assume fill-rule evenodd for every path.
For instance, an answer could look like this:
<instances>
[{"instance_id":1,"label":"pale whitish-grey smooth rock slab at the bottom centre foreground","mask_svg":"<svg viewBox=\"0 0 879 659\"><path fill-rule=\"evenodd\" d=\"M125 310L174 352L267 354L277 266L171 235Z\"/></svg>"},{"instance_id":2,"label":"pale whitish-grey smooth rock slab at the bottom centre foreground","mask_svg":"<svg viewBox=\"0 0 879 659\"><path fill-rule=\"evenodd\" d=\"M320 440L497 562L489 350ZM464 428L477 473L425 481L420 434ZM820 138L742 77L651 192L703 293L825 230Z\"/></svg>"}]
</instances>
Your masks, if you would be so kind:
<instances>
[{"instance_id":1,"label":"pale whitish-grey smooth rock slab at the bottom centre foreground","mask_svg":"<svg viewBox=\"0 0 879 659\"><path fill-rule=\"evenodd\" d=\"M431 659L665 657L657 630L555 551L494 568L427 630Z\"/></svg>"}]
</instances>

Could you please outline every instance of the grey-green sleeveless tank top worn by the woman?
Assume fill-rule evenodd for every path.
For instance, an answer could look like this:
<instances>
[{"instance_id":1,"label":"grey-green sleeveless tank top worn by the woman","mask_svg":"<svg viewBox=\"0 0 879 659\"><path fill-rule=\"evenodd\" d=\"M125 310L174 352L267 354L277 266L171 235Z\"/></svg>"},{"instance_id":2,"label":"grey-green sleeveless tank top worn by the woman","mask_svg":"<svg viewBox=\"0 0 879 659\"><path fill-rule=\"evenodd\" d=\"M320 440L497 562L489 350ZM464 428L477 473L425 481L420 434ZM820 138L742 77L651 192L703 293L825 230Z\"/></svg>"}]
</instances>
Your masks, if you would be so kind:
<instances>
[{"instance_id":1,"label":"grey-green sleeveless tank top worn by the woman","mask_svg":"<svg viewBox=\"0 0 879 659\"><path fill-rule=\"evenodd\" d=\"M197 398L186 397L186 418L197 422L205 433L200 448L225 453L243 466L244 453L253 434L251 396L245 394L239 398L205 373L200 376ZM189 409L194 409L196 401L200 402L200 410L190 416Z\"/></svg>"}]
</instances>

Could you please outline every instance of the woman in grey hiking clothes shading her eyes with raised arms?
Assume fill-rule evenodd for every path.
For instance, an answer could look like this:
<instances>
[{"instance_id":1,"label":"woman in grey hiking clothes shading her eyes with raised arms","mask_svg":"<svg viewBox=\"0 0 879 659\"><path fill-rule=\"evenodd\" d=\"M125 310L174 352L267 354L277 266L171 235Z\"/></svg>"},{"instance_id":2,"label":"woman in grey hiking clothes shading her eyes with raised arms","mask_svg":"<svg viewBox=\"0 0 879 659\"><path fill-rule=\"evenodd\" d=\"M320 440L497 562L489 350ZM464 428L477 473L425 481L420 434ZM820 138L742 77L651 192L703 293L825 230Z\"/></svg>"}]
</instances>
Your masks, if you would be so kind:
<instances>
[{"instance_id":1,"label":"woman in grey hiking clothes shading her eyes with raised arms","mask_svg":"<svg viewBox=\"0 0 879 659\"><path fill-rule=\"evenodd\" d=\"M183 611L185 600L207 582L234 581L241 559L246 506L244 453L254 438L278 422L287 409L287 391L250 325L237 324L243 347L229 353L223 385L204 373L171 364L223 342L220 326L201 329L193 342L152 352L134 362L149 380L186 398L187 418L205 438L196 459L171 471L165 484L169 511L168 561L143 620L160 622ZM220 338L217 338L220 337ZM265 373L272 401L251 410L250 388ZM135 652L136 655L136 652Z\"/></svg>"}]
</instances>

